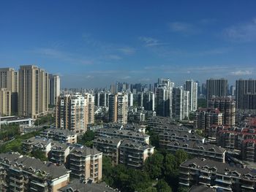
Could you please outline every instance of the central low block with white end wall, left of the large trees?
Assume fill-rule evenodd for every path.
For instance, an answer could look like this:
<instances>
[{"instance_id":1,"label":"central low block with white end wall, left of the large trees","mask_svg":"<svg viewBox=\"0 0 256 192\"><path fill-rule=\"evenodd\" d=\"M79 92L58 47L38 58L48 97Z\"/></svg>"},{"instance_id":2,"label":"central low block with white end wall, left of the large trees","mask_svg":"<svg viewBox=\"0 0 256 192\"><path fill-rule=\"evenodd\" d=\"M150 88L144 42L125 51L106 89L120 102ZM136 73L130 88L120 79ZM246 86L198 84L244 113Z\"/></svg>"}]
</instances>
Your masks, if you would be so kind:
<instances>
[{"instance_id":1,"label":"central low block with white end wall, left of the large trees","mask_svg":"<svg viewBox=\"0 0 256 192\"><path fill-rule=\"evenodd\" d=\"M154 154L154 147L146 143L124 139L120 145L119 163L140 168L148 156Z\"/></svg>"}]
</instances>

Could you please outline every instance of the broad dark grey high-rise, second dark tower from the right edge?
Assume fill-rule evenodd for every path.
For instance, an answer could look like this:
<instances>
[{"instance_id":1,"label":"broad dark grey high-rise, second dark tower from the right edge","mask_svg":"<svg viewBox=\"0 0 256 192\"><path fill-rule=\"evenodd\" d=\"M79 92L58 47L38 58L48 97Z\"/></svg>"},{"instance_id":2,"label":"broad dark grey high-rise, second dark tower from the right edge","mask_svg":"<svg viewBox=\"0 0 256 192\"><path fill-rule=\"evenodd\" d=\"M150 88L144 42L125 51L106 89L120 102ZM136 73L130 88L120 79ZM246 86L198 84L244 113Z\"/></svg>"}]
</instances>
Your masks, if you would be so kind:
<instances>
[{"instance_id":1,"label":"broad dark grey high-rise, second dark tower from the right edge","mask_svg":"<svg viewBox=\"0 0 256 192\"><path fill-rule=\"evenodd\" d=\"M227 80L220 79L214 80L210 79L206 81L206 99L207 102L213 97L226 97L227 96Z\"/></svg>"}]
</instances>

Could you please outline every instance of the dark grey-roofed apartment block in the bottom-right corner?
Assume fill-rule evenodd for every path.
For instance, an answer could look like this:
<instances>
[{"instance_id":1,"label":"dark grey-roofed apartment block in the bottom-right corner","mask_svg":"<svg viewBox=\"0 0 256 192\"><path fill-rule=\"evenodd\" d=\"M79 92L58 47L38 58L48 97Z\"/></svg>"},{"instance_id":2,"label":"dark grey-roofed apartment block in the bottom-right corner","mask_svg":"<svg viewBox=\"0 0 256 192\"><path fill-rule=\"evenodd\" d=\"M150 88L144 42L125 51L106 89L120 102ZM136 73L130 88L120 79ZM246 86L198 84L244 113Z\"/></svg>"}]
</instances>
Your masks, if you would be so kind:
<instances>
[{"instance_id":1,"label":"dark grey-roofed apartment block in the bottom-right corner","mask_svg":"<svg viewBox=\"0 0 256 192\"><path fill-rule=\"evenodd\" d=\"M179 169L179 185L208 185L219 191L255 191L256 173L206 158L192 158Z\"/></svg>"}]
</instances>

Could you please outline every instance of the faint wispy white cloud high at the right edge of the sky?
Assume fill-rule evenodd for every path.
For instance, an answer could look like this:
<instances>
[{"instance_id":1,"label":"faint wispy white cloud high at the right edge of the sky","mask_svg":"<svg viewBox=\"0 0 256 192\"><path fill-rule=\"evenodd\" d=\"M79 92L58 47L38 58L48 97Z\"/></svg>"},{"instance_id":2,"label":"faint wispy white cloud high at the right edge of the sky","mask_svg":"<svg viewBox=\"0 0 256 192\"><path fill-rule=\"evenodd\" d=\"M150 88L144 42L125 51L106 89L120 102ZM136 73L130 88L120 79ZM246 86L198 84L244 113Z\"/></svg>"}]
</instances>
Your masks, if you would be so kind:
<instances>
[{"instance_id":1,"label":"faint wispy white cloud high at the right edge of the sky","mask_svg":"<svg viewBox=\"0 0 256 192\"><path fill-rule=\"evenodd\" d=\"M256 40L256 18L249 23L230 26L224 30L225 37L236 42L251 42Z\"/></svg>"}]
</instances>

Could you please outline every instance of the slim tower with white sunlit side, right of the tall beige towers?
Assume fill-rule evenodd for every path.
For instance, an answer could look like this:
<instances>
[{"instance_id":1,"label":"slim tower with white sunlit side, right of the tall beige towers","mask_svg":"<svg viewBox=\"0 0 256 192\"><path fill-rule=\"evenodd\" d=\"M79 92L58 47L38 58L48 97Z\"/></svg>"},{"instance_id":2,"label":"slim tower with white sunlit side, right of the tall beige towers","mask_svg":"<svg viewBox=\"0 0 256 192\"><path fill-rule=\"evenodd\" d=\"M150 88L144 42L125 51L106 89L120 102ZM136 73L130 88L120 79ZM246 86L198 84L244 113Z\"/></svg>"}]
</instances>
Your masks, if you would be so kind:
<instances>
[{"instance_id":1,"label":"slim tower with white sunlit side, right of the tall beige towers","mask_svg":"<svg viewBox=\"0 0 256 192\"><path fill-rule=\"evenodd\" d=\"M61 92L61 80L58 74L49 74L49 87L50 96L49 101L51 105L56 105L56 99L58 99Z\"/></svg>"}]
</instances>

